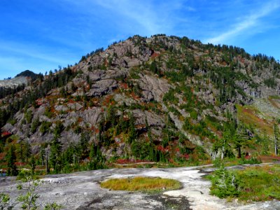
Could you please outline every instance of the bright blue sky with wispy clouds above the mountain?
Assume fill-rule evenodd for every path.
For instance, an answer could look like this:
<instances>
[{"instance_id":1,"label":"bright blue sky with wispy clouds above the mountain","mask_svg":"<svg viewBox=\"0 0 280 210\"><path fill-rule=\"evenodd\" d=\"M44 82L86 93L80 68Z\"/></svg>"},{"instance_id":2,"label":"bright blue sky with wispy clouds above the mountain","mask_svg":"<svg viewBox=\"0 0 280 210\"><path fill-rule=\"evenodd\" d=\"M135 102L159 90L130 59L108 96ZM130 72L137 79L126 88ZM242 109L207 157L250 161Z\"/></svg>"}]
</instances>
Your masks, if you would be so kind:
<instances>
[{"instance_id":1,"label":"bright blue sky with wispy clouds above the mountain","mask_svg":"<svg viewBox=\"0 0 280 210\"><path fill-rule=\"evenodd\" d=\"M280 0L1 0L0 79L75 64L139 34L188 36L280 59Z\"/></svg>"}]
</instances>

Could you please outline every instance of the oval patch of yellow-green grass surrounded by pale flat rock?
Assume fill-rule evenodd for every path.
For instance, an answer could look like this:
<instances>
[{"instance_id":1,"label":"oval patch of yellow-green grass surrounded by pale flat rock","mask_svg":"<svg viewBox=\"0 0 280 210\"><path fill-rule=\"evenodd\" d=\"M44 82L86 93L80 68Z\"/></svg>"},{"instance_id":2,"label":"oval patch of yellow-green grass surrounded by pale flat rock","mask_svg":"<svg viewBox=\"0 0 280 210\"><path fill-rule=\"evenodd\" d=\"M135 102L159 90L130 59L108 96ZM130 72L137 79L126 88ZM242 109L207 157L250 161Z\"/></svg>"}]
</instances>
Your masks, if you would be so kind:
<instances>
[{"instance_id":1,"label":"oval patch of yellow-green grass surrounded by pale flat rock","mask_svg":"<svg viewBox=\"0 0 280 210\"><path fill-rule=\"evenodd\" d=\"M129 177L123 179L109 179L103 181L100 186L110 190L142 191L147 193L164 190L177 190L182 187L179 181L174 179L162 179L160 177Z\"/></svg>"}]
</instances>

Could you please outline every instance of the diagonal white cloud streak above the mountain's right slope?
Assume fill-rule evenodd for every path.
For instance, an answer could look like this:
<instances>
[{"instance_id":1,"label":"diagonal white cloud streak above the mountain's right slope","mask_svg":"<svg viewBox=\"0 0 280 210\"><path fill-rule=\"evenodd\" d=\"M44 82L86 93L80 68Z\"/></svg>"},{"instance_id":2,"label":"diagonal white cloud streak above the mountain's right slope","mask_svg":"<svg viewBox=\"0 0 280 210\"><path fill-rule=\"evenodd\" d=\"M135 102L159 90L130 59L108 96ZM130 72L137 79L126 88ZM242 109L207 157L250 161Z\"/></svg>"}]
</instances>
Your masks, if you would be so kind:
<instances>
[{"instance_id":1,"label":"diagonal white cloud streak above the mountain's right slope","mask_svg":"<svg viewBox=\"0 0 280 210\"><path fill-rule=\"evenodd\" d=\"M208 38L204 42L214 44L224 43L225 41L235 38L240 34L244 35L246 31L251 30L252 27L257 26L261 18L264 18L265 16L269 15L269 13L272 13L274 10L279 8L279 6L279 1L269 2L265 6L262 6L260 10L253 11L251 15L245 16L244 18L239 18L241 21L235 23L235 25L233 25L232 28L228 31L225 31L218 36Z\"/></svg>"}]
</instances>

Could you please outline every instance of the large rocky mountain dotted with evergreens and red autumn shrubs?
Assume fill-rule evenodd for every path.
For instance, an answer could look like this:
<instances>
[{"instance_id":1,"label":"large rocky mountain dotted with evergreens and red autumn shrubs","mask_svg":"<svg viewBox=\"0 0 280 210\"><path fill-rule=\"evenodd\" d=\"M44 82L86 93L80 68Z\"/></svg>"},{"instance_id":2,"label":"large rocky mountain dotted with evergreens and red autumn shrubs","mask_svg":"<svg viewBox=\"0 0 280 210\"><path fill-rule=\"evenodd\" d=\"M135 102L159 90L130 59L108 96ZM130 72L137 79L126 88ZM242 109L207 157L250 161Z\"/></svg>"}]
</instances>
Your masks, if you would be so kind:
<instances>
[{"instance_id":1,"label":"large rocky mountain dotted with evergreens and red autumn shrubs","mask_svg":"<svg viewBox=\"0 0 280 210\"><path fill-rule=\"evenodd\" d=\"M273 57L186 37L133 36L1 99L0 126L13 136L1 141L0 156L14 144L19 160L33 154L45 165L48 153L59 172L88 160L95 169L124 158L272 153L279 87Z\"/></svg>"}]
</instances>

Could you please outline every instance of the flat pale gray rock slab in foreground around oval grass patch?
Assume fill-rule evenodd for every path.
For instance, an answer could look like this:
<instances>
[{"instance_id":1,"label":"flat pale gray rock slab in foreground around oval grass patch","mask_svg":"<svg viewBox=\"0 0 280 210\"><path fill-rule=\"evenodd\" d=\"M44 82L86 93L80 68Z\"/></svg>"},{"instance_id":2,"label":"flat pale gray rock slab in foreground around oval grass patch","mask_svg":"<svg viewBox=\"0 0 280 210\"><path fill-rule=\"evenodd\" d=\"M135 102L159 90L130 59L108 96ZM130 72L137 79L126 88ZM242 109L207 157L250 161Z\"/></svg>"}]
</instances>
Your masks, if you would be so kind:
<instances>
[{"instance_id":1,"label":"flat pale gray rock slab in foreground around oval grass patch","mask_svg":"<svg viewBox=\"0 0 280 210\"><path fill-rule=\"evenodd\" d=\"M48 175L41 179L36 191L40 195L37 203L40 209L49 202L62 204L63 209L280 209L279 201L241 204L209 195L211 183L202 179L203 175L205 172L202 167L105 169ZM108 190L99 184L106 179L133 176L176 179L182 183L182 188L150 195ZM1 192L10 194L11 200L14 201L20 195L13 178L0 177L0 183Z\"/></svg>"}]
</instances>

